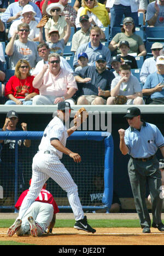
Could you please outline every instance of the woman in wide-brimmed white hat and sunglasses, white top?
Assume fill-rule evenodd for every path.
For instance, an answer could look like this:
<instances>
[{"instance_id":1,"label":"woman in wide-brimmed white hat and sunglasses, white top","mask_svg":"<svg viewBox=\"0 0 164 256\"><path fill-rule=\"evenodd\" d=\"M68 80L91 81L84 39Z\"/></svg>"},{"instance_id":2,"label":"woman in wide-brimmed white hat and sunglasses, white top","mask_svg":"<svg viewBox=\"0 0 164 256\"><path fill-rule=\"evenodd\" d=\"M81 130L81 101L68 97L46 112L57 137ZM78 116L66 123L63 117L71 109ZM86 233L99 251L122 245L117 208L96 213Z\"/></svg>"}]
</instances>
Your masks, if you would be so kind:
<instances>
[{"instance_id":1,"label":"woman in wide-brimmed white hat and sunglasses, white top","mask_svg":"<svg viewBox=\"0 0 164 256\"><path fill-rule=\"evenodd\" d=\"M60 40L65 37L67 30L67 22L65 16L61 16L64 7L60 3L51 3L46 8L46 13L51 15L51 18L46 22L45 28L45 39L49 42L49 31L54 29L60 34Z\"/></svg>"}]
</instances>

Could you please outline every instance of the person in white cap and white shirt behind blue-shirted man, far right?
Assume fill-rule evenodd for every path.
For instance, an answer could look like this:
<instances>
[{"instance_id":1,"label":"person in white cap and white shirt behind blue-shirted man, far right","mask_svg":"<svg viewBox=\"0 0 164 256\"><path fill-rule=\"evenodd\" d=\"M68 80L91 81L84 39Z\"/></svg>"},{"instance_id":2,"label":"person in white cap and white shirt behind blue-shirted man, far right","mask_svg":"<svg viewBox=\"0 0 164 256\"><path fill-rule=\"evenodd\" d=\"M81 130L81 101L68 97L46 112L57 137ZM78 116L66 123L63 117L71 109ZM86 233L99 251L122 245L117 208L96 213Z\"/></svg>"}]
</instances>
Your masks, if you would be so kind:
<instances>
[{"instance_id":1,"label":"person in white cap and white shirt behind blue-shirted man, far right","mask_svg":"<svg viewBox=\"0 0 164 256\"><path fill-rule=\"evenodd\" d=\"M153 57L146 59L142 65L140 70L140 82L143 84L146 82L148 75L157 71L156 67L156 58L157 56L163 55L161 54L161 50L163 49L163 45L159 42L152 44L151 53Z\"/></svg>"}]
</instances>

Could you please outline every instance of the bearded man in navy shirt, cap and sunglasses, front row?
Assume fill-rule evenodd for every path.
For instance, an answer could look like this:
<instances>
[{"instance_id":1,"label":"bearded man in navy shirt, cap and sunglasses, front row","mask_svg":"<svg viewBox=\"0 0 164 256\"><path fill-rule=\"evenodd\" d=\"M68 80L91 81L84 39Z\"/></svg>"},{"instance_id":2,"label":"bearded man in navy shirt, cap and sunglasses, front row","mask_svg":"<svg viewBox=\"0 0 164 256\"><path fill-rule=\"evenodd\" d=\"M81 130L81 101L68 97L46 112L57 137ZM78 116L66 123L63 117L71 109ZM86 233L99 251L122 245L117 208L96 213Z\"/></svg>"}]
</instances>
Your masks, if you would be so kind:
<instances>
[{"instance_id":1,"label":"bearded man in navy shirt, cap and sunglasses, front row","mask_svg":"<svg viewBox=\"0 0 164 256\"><path fill-rule=\"evenodd\" d=\"M104 105L110 96L110 85L114 74L106 69L106 56L99 54L96 57L96 66L86 66L74 73L80 96L78 105Z\"/></svg>"}]
</instances>

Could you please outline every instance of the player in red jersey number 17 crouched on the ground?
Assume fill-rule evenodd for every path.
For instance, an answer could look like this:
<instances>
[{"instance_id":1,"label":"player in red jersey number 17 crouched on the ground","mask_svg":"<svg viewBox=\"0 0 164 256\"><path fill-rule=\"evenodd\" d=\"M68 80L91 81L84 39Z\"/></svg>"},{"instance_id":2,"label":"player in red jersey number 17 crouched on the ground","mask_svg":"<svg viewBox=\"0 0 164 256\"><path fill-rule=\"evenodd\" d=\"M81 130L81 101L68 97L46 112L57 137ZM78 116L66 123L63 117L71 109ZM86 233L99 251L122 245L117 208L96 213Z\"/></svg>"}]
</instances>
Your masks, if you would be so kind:
<instances>
[{"instance_id":1,"label":"player in red jersey number 17 crouched on the ground","mask_svg":"<svg viewBox=\"0 0 164 256\"><path fill-rule=\"evenodd\" d=\"M31 180L30 180L31 185ZM27 195L29 189L25 190L16 202L15 208L20 209L22 201ZM28 223L28 217L33 217L35 225L38 230L38 236L42 236L45 232L52 232L55 225L56 213L58 213L58 207L51 193L46 190L46 183L44 184L42 190L36 201L32 203L28 211L26 212L24 218L22 218L20 224L21 226L17 229L17 236L25 235L31 230Z\"/></svg>"}]
</instances>

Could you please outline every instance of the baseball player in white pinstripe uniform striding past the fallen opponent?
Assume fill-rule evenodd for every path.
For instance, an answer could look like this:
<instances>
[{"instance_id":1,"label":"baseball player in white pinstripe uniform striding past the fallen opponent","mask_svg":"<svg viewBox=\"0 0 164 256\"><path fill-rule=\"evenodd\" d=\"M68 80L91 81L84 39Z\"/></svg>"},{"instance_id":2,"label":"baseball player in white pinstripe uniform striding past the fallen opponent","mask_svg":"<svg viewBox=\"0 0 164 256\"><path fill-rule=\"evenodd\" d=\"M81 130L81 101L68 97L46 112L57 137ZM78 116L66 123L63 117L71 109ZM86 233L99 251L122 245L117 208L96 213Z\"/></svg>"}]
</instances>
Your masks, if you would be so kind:
<instances>
[{"instance_id":1,"label":"baseball player in white pinstripe uniform striding past the fallen opponent","mask_svg":"<svg viewBox=\"0 0 164 256\"><path fill-rule=\"evenodd\" d=\"M71 106L69 102L58 103L57 117L54 117L46 127L42 141L39 145L39 151L33 158L31 187L22 202L18 218L8 229L8 236L13 236L20 228L20 220L37 198L40 190L49 177L54 179L54 181L67 192L68 201L72 207L76 220L74 228L85 230L86 232L96 232L96 230L92 229L87 223L86 216L84 216L83 208L78 196L77 185L74 183L66 167L60 161L63 153L69 155L75 162L81 161L81 157L78 153L74 153L66 148L68 136L70 136L78 127L77 125L76 127L74 126L67 130L65 123L69 120L70 113ZM37 226L33 219L31 226L32 229L34 229L34 232L31 230L32 233L37 236Z\"/></svg>"}]
</instances>

